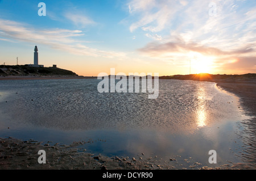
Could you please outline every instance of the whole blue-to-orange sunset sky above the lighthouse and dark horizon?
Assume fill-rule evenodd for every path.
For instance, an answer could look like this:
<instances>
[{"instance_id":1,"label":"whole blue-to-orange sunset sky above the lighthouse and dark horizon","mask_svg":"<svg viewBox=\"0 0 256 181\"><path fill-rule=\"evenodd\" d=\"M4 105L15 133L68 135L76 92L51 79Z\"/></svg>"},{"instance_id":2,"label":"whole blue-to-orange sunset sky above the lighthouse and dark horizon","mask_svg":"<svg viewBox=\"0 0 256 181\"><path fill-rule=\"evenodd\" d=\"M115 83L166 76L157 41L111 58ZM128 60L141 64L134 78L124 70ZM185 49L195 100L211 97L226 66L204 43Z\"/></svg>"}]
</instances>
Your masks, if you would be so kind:
<instances>
[{"instance_id":1,"label":"whole blue-to-orange sunset sky above the lighthouse and dark horizon","mask_svg":"<svg viewBox=\"0 0 256 181\"><path fill-rule=\"evenodd\" d=\"M84 76L256 73L256 1L0 0L0 64L33 64L35 45Z\"/></svg>"}]
</instances>

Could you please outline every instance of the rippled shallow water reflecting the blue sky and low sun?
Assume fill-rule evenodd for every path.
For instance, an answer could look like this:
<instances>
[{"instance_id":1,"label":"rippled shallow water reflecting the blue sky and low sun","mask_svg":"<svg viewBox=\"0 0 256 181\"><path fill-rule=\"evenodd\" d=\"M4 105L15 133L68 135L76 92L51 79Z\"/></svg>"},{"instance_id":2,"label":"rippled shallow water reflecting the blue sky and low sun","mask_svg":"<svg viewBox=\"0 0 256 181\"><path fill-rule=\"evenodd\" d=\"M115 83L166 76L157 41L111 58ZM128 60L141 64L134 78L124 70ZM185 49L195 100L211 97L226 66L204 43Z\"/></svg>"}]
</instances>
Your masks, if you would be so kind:
<instances>
[{"instance_id":1,"label":"rippled shallow water reflecting the blue sky and low sun","mask_svg":"<svg viewBox=\"0 0 256 181\"><path fill-rule=\"evenodd\" d=\"M1 81L0 137L60 144L89 140L82 147L92 153L143 153L163 162L175 157L170 164L176 167L244 162L240 123L248 117L238 109L238 98L215 83L159 80L158 98L148 99L147 93L99 93L98 82ZM217 152L215 165L208 162L209 150Z\"/></svg>"}]
</instances>

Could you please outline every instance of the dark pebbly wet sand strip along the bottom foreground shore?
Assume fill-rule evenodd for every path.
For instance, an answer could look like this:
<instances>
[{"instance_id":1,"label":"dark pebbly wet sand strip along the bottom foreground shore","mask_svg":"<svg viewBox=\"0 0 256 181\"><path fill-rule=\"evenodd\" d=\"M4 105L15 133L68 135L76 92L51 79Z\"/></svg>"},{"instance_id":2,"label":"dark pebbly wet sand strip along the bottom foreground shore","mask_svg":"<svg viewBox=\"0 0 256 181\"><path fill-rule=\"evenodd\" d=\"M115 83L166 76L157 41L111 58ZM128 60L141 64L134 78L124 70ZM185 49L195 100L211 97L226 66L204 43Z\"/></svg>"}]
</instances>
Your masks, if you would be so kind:
<instances>
[{"instance_id":1,"label":"dark pebbly wet sand strip along the bottom foreground shore","mask_svg":"<svg viewBox=\"0 0 256 181\"><path fill-rule=\"evenodd\" d=\"M84 142L49 145L35 140L22 141L8 137L0 138L0 143L0 170L176 170L180 168L174 165L182 165L175 158L170 158L163 164L156 157L144 157L143 153L137 159L94 155L76 147L85 144ZM39 150L46 151L46 163L38 163ZM191 162L189 167L182 169L237 170L251 167L245 163L208 167L199 162Z\"/></svg>"}]
</instances>

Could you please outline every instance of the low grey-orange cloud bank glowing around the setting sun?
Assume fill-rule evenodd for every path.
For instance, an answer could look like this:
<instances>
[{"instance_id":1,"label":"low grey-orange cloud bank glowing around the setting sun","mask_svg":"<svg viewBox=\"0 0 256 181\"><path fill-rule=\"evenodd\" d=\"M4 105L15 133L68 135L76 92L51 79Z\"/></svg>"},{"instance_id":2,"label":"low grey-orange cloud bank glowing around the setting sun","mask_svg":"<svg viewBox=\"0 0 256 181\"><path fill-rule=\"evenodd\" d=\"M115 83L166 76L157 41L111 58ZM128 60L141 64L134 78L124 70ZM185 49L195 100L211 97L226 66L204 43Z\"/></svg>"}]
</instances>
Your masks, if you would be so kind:
<instances>
[{"instance_id":1,"label":"low grey-orange cloud bank glowing around the setting sun","mask_svg":"<svg viewBox=\"0 0 256 181\"><path fill-rule=\"evenodd\" d=\"M160 43L152 41L139 52L156 60L172 62L176 67L205 64L216 70L215 73L254 73L256 71L255 45L243 45L239 49L223 50L192 41L177 38L174 41ZM171 61L170 61L171 60Z\"/></svg>"}]
</instances>

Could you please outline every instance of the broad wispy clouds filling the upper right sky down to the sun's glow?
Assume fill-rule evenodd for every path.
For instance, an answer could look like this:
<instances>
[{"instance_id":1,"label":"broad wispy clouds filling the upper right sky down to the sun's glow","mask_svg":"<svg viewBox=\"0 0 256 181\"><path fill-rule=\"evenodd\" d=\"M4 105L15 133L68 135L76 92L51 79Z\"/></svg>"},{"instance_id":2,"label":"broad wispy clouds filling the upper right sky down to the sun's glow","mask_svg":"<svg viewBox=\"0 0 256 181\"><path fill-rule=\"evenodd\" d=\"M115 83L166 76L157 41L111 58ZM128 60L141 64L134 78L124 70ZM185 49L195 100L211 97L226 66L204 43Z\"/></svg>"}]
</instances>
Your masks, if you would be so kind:
<instances>
[{"instance_id":1,"label":"broad wispy clouds filling the upper right sky down to the sun's glow","mask_svg":"<svg viewBox=\"0 0 256 181\"><path fill-rule=\"evenodd\" d=\"M195 55L222 68L238 62L244 67L242 62L250 62L247 68L256 65L256 7L249 1L212 2L214 16L209 15L208 1L130 1L130 31L146 32L154 40L139 52L180 65Z\"/></svg>"}]
</instances>

